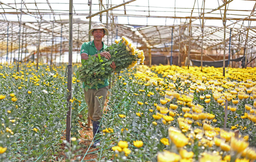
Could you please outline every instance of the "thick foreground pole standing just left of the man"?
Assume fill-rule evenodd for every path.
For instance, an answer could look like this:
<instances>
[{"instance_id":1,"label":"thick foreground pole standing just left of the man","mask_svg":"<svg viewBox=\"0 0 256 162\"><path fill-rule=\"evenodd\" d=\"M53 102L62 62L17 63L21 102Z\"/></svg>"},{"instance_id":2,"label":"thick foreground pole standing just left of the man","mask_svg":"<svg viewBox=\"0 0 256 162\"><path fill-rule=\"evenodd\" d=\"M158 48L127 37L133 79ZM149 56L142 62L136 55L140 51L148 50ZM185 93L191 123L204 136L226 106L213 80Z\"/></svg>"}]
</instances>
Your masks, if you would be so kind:
<instances>
[{"instance_id":1,"label":"thick foreground pole standing just left of the man","mask_svg":"<svg viewBox=\"0 0 256 162\"><path fill-rule=\"evenodd\" d=\"M66 129L66 140L70 142L70 131L71 131L71 114L72 114L72 103L70 99L72 98L72 51L73 51L73 0L70 0L70 8L69 8L69 55L68 55L68 66L67 66L67 89L68 89L68 97L67 97L67 129Z\"/></svg>"}]
</instances>

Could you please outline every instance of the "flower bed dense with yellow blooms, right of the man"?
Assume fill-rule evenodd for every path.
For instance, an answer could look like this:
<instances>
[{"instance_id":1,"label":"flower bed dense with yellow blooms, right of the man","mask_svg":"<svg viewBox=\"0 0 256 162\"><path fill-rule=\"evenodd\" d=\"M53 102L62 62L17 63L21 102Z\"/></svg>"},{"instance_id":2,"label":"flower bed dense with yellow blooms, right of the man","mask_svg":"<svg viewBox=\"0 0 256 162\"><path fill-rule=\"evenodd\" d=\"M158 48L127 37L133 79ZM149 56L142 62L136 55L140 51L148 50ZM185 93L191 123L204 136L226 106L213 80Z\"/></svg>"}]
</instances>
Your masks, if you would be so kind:
<instances>
[{"instance_id":1,"label":"flower bed dense with yellow blooms, right of the man","mask_svg":"<svg viewBox=\"0 0 256 162\"><path fill-rule=\"evenodd\" d=\"M121 72L101 122L99 159L255 160L256 68L228 68L225 78L221 68L203 71L162 65Z\"/></svg>"}]
</instances>

